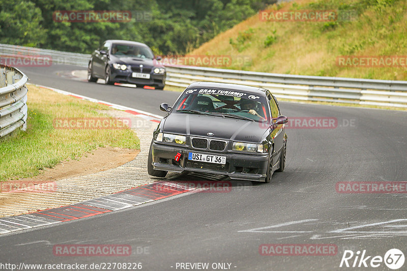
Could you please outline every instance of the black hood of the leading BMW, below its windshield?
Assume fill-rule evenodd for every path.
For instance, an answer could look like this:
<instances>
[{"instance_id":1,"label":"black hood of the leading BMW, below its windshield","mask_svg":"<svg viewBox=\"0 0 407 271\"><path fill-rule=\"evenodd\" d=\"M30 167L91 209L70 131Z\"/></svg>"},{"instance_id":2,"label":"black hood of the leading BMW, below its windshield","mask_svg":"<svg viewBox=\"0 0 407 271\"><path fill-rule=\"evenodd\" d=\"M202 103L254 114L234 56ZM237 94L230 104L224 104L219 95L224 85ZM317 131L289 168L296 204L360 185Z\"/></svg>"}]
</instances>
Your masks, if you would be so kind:
<instances>
[{"instance_id":1,"label":"black hood of the leading BMW, below its windshield","mask_svg":"<svg viewBox=\"0 0 407 271\"><path fill-rule=\"evenodd\" d=\"M265 125L267 126L267 125ZM187 113L169 114L163 132L239 142L258 143L268 127L256 121ZM208 136L212 132L213 136Z\"/></svg>"}]
</instances>

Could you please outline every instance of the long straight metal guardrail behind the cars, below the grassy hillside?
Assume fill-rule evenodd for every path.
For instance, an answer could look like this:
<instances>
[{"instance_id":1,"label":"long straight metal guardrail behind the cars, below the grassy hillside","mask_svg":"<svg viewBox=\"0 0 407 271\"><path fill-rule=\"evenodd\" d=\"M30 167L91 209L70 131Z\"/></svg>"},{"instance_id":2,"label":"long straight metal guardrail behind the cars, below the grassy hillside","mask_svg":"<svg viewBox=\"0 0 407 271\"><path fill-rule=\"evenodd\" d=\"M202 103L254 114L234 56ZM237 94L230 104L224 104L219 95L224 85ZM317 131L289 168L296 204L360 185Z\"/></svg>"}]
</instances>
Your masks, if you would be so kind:
<instances>
[{"instance_id":1,"label":"long straight metal guardrail behind the cars, below the grassy hillside","mask_svg":"<svg viewBox=\"0 0 407 271\"><path fill-rule=\"evenodd\" d=\"M88 66L91 55L0 44L0 55L48 55L52 63ZM278 98L407 108L407 81L270 74L195 66L166 66L167 86L196 81L244 84L270 89Z\"/></svg>"}]
</instances>

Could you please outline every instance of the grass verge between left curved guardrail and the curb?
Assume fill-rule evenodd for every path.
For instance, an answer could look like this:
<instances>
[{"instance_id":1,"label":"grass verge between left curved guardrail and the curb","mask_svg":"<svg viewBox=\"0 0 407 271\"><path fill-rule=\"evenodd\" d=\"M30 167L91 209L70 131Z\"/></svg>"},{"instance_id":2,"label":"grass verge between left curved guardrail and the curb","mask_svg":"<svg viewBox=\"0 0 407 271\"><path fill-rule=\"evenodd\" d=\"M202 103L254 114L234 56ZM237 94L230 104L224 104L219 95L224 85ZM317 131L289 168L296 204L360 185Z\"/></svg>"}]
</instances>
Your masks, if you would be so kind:
<instances>
[{"instance_id":1,"label":"grass verge between left curved guardrail and the curb","mask_svg":"<svg viewBox=\"0 0 407 271\"><path fill-rule=\"evenodd\" d=\"M140 141L126 129L55 129L55 118L108 117L109 107L44 88L28 86L27 130L0 139L0 181L28 178L60 161L79 159L98 147L139 149Z\"/></svg>"}]
</instances>

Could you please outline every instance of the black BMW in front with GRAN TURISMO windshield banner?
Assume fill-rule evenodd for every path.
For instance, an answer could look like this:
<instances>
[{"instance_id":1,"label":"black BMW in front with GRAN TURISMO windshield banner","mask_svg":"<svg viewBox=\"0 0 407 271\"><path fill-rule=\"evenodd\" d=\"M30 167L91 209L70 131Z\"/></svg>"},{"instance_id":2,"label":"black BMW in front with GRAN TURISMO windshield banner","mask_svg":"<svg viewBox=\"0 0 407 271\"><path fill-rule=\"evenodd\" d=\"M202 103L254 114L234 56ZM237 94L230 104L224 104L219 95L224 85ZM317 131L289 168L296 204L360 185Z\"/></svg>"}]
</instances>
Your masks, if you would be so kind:
<instances>
[{"instance_id":1,"label":"black BMW in front with GRAN TURISMO windshield banner","mask_svg":"<svg viewBox=\"0 0 407 271\"><path fill-rule=\"evenodd\" d=\"M189 85L154 130L148 172L202 172L270 182L285 167L287 135L272 93L214 82Z\"/></svg>"}]
</instances>

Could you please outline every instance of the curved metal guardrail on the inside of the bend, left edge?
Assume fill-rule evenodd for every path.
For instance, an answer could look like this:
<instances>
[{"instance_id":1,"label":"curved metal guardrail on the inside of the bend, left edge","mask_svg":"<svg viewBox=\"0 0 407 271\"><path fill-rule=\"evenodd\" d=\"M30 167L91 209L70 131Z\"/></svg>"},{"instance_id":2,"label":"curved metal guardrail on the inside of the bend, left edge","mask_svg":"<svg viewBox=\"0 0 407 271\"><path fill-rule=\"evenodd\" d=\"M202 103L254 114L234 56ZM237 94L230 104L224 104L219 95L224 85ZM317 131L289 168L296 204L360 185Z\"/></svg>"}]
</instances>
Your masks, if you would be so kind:
<instances>
[{"instance_id":1,"label":"curved metal guardrail on the inside of the bend, left edge","mask_svg":"<svg viewBox=\"0 0 407 271\"><path fill-rule=\"evenodd\" d=\"M27 81L19 70L0 65L0 138L27 128Z\"/></svg>"}]
</instances>

